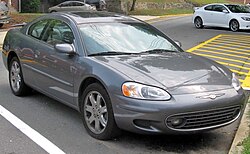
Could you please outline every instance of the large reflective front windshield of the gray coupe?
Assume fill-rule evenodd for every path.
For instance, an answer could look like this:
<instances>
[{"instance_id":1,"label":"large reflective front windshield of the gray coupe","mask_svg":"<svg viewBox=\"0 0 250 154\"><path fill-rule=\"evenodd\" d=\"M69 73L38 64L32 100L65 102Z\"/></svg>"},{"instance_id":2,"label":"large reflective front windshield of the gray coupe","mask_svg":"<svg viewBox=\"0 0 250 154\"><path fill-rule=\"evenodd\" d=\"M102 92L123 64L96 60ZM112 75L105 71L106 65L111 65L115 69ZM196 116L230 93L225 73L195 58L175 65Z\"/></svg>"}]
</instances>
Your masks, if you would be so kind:
<instances>
[{"instance_id":1,"label":"large reflective front windshield of the gray coupe","mask_svg":"<svg viewBox=\"0 0 250 154\"><path fill-rule=\"evenodd\" d=\"M80 25L88 55L177 52L160 32L143 23L90 23Z\"/></svg>"}]
</instances>

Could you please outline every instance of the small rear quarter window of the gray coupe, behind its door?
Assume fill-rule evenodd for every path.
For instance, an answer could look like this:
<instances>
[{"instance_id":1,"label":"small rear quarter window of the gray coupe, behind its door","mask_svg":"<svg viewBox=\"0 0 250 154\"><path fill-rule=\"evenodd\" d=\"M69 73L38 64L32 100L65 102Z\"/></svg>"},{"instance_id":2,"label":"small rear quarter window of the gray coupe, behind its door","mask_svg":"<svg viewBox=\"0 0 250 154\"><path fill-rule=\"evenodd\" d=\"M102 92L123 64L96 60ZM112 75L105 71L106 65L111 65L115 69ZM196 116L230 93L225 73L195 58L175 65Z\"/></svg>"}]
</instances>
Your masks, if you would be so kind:
<instances>
[{"instance_id":1,"label":"small rear quarter window of the gray coupe, behind its door","mask_svg":"<svg viewBox=\"0 0 250 154\"><path fill-rule=\"evenodd\" d=\"M41 39L42 32L45 26L47 25L47 23L48 23L48 20L41 20L41 21L34 23L33 25L30 26L28 30L28 35L37 39Z\"/></svg>"}]
</instances>

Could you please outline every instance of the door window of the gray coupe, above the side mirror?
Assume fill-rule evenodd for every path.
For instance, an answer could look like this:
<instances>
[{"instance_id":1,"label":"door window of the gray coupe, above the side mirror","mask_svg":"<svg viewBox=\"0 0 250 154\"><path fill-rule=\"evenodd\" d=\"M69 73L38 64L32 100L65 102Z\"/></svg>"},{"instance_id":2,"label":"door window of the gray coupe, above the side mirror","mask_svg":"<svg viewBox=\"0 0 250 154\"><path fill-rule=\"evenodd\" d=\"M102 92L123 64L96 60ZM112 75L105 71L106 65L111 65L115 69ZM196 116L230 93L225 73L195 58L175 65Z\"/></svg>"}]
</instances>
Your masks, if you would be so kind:
<instances>
[{"instance_id":1,"label":"door window of the gray coupe, above the side mirror","mask_svg":"<svg viewBox=\"0 0 250 154\"><path fill-rule=\"evenodd\" d=\"M74 35L66 23L59 20L52 20L43 40L51 45L62 43L72 44Z\"/></svg>"}]
</instances>

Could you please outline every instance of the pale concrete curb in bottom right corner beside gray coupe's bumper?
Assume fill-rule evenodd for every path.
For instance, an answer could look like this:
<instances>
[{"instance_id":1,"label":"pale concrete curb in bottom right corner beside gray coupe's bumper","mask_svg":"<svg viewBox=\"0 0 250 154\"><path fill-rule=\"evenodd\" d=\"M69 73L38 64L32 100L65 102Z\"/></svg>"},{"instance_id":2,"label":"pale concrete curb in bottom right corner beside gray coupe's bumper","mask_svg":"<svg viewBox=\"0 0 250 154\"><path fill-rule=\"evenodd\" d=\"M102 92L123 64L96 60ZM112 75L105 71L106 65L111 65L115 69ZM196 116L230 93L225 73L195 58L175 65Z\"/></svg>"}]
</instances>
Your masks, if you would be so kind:
<instances>
[{"instance_id":1,"label":"pale concrete curb in bottom right corner beside gray coupe's bumper","mask_svg":"<svg viewBox=\"0 0 250 154\"><path fill-rule=\"evenodd\" d=\"M243 113L243 117L241 118L240 125L235 134L233 143L228 154L241 154L243 150L242 141L248 137L249 135L249 112L250 112L250 104L246 104L245 111Z\"/></svg>"}]
</instances>

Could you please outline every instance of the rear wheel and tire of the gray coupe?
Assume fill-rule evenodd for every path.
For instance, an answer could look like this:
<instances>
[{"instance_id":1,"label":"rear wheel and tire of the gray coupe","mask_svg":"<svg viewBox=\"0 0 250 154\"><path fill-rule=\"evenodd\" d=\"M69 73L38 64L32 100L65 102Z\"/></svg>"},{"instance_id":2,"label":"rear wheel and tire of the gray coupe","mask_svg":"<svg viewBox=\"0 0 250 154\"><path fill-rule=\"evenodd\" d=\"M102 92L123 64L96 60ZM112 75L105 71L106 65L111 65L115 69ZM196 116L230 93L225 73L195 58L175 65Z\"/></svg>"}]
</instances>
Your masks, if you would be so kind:
<instances>
[{"instance_id":1,"label":"rear wheel and tire of the gray coupe","mask_svg":"<svg viewBox=\"0 0 250 154\"><path fill-rule=\"evenodd\" d=\"M17 57L12 58L9 65L9 84L16 96L27 95L31 89L24 83L22 68Z\"/></svg>"}]
</instances>

